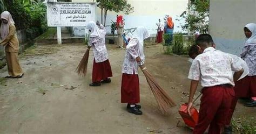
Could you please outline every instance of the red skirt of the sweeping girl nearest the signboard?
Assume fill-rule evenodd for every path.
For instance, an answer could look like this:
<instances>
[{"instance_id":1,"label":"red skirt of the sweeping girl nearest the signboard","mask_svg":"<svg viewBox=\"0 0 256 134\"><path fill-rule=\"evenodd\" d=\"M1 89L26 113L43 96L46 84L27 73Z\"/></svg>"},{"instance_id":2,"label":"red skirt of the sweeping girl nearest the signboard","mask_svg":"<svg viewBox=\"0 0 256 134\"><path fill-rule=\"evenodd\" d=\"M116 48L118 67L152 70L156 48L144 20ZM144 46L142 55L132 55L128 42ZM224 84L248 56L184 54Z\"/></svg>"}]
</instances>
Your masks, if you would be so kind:
<instances>
[{"instance_id":1,"label":"red skirt of the sweeping girl nearest the signboard","mask_svg":"<svg viewBox=\"0 0 256 134\"><path fill-rule=\"evenodd\" d=\"M112 77L109 60L96 63L94 59L92 67L92 82L100 82L108 77Z\"/></svg>"}]
</instances>

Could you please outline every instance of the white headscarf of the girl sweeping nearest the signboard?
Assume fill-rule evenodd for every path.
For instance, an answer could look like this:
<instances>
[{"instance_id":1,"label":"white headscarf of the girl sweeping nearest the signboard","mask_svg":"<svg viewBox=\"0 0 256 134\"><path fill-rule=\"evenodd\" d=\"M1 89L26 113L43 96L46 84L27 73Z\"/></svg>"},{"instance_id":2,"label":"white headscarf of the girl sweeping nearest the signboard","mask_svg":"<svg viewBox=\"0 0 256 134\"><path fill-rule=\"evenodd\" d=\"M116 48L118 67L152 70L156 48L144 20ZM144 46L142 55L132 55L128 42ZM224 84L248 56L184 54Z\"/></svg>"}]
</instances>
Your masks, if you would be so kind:
<instances>
[{"instance_id":1,"label":"white headscarf of the girl sweeping nearest the signboard","mask_svg":"<svg viewBox=\"0 0 256 134\"><path fill-rule=\"evenodd\" d=\"M103 32L99 30L99 28L98 28L98 26L96 25L95 22L90 21L90 22L86 25L86 29L91 30L90 37L99 37L100 39L103 39L103 38L104 38Z\"/></svg>"}]
</instances>

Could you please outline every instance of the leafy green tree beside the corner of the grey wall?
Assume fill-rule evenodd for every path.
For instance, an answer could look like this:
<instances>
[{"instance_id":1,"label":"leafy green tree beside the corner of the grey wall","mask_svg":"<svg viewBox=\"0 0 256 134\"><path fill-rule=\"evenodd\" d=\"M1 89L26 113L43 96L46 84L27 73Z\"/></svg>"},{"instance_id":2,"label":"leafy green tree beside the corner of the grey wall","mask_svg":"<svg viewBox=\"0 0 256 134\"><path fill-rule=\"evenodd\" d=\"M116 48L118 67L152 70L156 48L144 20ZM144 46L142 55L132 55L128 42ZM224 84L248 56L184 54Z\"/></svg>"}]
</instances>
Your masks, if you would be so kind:
<instances>
[{"instance_id":1,"label":"leafy green tree beside the corner of the grey wall","mask_svg":"<svg viewBox=\"0 0 256 134\"><path fill-rule=\"evenodd\" d=\"M181 28L192 33L196 31L207 33L209 9L210 0L191 0L188 3L187 11L180 15L180 17L185 19L185 24L181 25Z\"/></svg>"}]
</instances>

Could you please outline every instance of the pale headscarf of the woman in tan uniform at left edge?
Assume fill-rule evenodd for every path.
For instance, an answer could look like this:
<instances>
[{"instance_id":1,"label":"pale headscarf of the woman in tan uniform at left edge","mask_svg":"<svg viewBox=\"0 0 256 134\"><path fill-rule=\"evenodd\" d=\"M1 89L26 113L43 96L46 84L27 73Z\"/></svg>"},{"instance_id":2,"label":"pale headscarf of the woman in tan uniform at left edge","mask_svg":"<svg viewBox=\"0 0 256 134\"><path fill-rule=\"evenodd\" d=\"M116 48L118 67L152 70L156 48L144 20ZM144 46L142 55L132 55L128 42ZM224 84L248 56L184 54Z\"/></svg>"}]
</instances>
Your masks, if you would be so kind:
<instances>
[{"instance_id":1,"label":"pale headscarf of the woman in tan uniform at left edge","mask_svg":"<svg viewBox=\"0 0 256 134\"><path fill-rule=\"evenodd\" d=\"M11 13L8 12L8 11L2 12L1 19L5 19L5 20L8 21L7 24L4 24L2 22L2 25L1 25L1 37L2 37L2 40L4 40L6 38L6 36L8 36L8 34L9 34L10 25L15 24L15 23L14 23L14 20L12 19L12 17L11 17Z\"/></svg>"}]
</instances>

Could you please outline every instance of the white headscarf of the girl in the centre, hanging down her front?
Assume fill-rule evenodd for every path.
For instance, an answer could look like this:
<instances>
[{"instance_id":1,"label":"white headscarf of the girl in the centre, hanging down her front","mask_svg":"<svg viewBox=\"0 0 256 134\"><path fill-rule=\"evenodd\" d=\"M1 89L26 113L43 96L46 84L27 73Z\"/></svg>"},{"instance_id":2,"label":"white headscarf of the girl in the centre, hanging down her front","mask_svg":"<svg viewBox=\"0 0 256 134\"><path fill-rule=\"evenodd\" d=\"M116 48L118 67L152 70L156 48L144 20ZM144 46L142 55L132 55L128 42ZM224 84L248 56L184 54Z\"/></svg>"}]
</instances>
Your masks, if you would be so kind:
<instances>
[{"instance_id":1,"label":"white headscarf of the girl in the centre, hanging down her front","mask_svg":"<svg viewBox=\"0 0 256 134\"><path fill-rule=\"evenodd\" d=\"M142 62L144 64L145 61L145 55L143 53L143 46L144 46L144 39L147 39L150 37L149 31L143 26L139 26L132 35L132 39L136 38L139 40L139 53L140 53L140 59L142 59Z\"/></svg>"}]
</instances>

